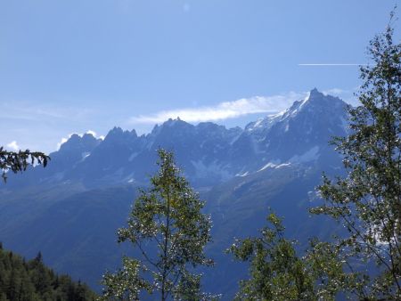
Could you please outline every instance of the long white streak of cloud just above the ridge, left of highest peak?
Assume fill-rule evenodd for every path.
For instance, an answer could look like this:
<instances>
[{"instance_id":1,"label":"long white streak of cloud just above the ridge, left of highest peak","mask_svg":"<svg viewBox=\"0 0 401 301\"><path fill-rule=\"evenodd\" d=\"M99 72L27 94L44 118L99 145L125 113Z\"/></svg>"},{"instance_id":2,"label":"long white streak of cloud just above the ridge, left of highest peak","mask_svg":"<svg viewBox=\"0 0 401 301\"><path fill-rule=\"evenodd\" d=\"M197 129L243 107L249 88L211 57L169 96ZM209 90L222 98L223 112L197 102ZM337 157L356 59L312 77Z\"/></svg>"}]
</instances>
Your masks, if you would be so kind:
<instances>
[{"instance_id":1,"label":"long white streak of cloud just above the ridge, left of highest peak","mask_svg":"<svg viewBox=\"0 0 401 301\"><path fill-rule=\"evenodd\" d=\"M292 102L303 99L307 93L291 92L273 96L255 96L233 102L221 102L216 106L163 110L151 115L140 115L129 119L130 124L162 123L168 118L181 118L187 122L216 121L238 118L255 113L276 113L291 106Z\"/></svg>"}]
</instances>

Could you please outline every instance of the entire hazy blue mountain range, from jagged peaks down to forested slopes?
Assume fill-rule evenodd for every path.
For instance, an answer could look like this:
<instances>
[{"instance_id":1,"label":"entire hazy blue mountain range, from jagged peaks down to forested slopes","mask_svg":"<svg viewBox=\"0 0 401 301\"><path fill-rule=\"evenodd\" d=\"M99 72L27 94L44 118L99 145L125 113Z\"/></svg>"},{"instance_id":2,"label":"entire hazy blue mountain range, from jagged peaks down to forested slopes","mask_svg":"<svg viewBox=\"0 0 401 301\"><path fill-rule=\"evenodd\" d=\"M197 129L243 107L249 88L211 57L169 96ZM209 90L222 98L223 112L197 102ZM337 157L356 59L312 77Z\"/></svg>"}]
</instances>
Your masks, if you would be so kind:
<instances>
[{"instance_id":1,"label":"entire hazy blue mountain range, from jagged peaks down to forested slopes","mask_svg":"<svg viewBox=\"0 0 401 301\"><path fill-rule=\"evenodd\" d=\"M48 167L10 175L0 187L0 240L24 256L99 289L106 269L119 266L129 245L116 243L138 187L156 171L158 148L173 150L192 186L207 201L216 267L204 271L205 289L231 299L244 264L224 254L233 238L254 235L268 207L284 217L288 236L306 246L311 236L329 237L335 224L310 216L319 202L322 172L340 175L341 158L329 144L348 131L347 104L313 89L304 100L243 129L179 118L150 134L114 127L103 140L73 134L50 154ZM319 224L319 227L316 225Z\"/></svg>"}]
</instances>

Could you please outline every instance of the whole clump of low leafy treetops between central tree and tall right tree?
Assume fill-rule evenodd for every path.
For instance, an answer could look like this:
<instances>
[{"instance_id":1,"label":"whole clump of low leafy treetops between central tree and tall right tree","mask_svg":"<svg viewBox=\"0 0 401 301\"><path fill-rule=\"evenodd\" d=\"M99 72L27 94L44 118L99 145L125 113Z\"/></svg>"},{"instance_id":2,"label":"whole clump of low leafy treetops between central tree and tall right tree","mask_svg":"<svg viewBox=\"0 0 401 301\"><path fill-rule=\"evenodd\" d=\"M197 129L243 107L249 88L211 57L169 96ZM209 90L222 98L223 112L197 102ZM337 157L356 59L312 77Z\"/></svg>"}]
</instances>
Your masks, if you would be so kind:
<instances>
[{"instance_id":1,"label":"whole clump of low leafy treetops between central tree and tall right tree","mask_svg":"<svg viewBox=\"0 0 401 301\"><path fill-rule=\"evenodd\" d=\"M303 257L295 241L286 240L281 220L273 213L257 238L236 240L227 249L239 261L250 261L250 279L240 282L238 300L334 300L339 283L353 279L343 273L336 249L311 242ZM345 284L344 284L345 285Z\"/></svg>"}]
</instances>

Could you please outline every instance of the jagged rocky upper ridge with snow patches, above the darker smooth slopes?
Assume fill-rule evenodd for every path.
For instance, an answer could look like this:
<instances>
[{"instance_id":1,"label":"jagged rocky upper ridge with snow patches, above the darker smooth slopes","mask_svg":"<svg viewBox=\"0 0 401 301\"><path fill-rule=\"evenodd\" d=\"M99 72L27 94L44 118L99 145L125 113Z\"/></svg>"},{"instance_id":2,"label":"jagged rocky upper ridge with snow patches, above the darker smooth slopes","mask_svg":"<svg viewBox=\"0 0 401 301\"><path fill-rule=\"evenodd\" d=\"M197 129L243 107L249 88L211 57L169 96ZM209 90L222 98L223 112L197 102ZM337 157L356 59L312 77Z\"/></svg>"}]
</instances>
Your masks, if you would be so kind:
<instances>
[{"instance_id":1,"label":"jagged rocky upper ridge with snow patches, above the darker smooth slopes","mask_svg":"<svg viewBox=\"0 0 401 301\"><path fill-rule=\"evenodd\" d=\"M50 154L48 168L33 168L12 177L19 186L37 183L82 182L88 188L121 183L146 183L155 170L155 151L173 150L193 185L222 183L235 175L257 172L272 164L315 157L326 152L328 135L344 135L346 103L313 89L304 100L278 114L251 122L243 129L212 122L192 125L168 119L138 136L115 126L103 140L92 134L72 134ZM291 145L291 147L288 147ZM297 152L294 152L296 150ZM320 156L319 155L319 156ZM325 157L325 156L323 156Z\"/></svg>"}]
</instances>

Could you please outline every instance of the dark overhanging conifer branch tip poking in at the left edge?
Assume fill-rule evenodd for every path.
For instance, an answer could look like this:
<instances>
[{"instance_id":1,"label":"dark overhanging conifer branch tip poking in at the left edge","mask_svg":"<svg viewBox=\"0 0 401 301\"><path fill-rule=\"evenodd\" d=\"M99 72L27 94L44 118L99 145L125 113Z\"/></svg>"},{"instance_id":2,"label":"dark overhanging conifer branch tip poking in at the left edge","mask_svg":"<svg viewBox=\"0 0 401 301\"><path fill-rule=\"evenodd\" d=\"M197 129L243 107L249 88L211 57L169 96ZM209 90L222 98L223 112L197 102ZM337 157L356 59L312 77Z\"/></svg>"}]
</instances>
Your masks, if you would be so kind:
<instances>
[{"instance_id":1,"label":"dark overhanging conifer branch tip poking in at the left edge","mask_svg":"<svg viewBox=\"0 0 401 301\"><path fill-rule=\"evenodd\" d=\"M50 157L45 155L43 152L20 150L18 152L4 150L0 147L0 170L2 171L2 177L4 182L7 179L6 173L12 171L13 173L22 172L29 167L29 165L42 164L46 167Z\"/></svg>"}]
</instances>

